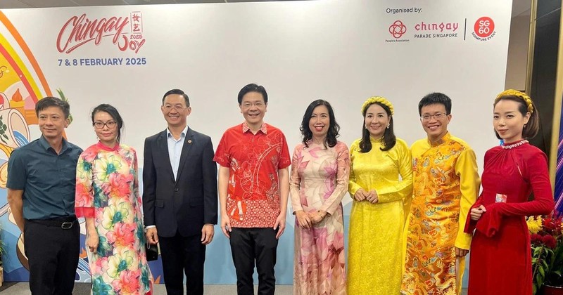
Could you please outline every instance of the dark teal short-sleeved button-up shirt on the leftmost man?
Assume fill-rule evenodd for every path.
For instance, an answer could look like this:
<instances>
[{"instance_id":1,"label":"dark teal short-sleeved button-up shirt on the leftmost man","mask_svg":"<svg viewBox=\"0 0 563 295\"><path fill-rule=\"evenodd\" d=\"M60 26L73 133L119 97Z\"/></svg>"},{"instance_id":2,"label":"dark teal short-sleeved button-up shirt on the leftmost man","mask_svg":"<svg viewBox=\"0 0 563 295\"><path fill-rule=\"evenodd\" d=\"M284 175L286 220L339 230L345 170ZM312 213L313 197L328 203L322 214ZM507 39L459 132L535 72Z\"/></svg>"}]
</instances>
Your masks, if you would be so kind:
<instances>
[{"instance_id":1,"label":"dark teal short-sleeved button-up shirt on the leftmost man","mask_svg":"<svg viewBox=\"0 0 563 295\"><path fill-rule=\"evenodd\" d=\"M63 138L57 155L41 136L14 150L6 187L23 190L23 218L75 216L76 164L82 149Z\"/></svg>"}]
</instances>

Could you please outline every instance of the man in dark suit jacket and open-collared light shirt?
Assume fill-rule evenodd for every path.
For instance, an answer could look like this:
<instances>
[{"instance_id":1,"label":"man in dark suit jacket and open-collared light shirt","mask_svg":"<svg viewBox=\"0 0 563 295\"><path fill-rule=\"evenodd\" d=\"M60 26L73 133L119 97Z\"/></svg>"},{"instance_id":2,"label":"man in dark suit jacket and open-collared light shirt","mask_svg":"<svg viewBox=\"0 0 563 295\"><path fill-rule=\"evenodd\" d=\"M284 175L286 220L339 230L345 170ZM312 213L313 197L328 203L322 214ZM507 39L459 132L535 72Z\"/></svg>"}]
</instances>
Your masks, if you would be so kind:
<instances>
[{"instance_id":1,"label":"man in dark suit jacket and open-collared light shirt","mask_svg":"<svg viewBox=\"0 0 563 295\"><path fill-rule=\"evenodd\" d=\"M148 242L160 242L167 294L203 294L205 245L217 224L217 166L211 138L190 129L189 98L163 96L168 128L146 138L143 209ZM182 270L184 270L182 272Z\"/></svg>"}]
</instances>

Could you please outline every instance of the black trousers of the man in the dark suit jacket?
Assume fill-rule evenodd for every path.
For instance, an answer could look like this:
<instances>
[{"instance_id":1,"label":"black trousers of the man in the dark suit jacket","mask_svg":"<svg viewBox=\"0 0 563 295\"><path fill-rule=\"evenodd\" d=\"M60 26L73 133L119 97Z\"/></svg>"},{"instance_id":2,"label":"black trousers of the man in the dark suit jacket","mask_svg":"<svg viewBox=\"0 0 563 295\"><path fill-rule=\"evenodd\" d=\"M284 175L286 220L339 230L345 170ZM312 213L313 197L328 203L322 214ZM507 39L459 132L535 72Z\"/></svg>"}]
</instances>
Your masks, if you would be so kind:
<instances>
[{"instance_id":1,"label":"black trousers of the man in the dark suit jacket","mask_svg":"<svg viewBox=\"0 0 563 295\"><path fill-rule=\"evenodd\" d=\"M205 245L201 244L201 235L182 237L176 232L174 237L159 236L158 242L166 294L184 294L185 273L186 294L203 295Z\"/></svg>"}]
</instances>

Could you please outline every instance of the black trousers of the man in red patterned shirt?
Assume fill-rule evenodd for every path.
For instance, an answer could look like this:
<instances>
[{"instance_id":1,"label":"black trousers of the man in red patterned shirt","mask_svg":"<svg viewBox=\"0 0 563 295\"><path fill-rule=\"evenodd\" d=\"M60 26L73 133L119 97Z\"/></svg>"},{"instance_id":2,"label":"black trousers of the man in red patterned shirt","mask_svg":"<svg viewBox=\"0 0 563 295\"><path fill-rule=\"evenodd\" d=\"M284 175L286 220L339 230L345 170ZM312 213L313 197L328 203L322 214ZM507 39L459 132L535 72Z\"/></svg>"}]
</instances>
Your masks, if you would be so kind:
<instances>
[{"instance_id":1,"label":"black trousers of the man in red patterned shirt","mask_svg":"<svg viewBox=\"0 0 563 295\"><path fill-rule=\"evenodd\" d=\"M272 228L233 228L231 252L236 269L236 291L239 295L254 294L252 275L258 271L258 294L273 295L276 289L277 230Z\"/></svg>"}]
</instances>

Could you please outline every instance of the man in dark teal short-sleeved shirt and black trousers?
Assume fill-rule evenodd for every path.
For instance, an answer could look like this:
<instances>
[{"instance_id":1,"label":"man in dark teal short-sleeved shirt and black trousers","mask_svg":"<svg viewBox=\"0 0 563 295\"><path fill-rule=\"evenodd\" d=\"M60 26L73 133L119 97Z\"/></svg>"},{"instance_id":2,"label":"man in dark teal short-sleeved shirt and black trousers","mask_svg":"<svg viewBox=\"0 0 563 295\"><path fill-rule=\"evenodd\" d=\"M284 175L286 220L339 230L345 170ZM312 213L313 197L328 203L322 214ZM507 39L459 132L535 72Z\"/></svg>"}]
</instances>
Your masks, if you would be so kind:
<instances>
[{"instance_id":1,"label":"man in dark teal short-sleeved shirt and black trousers","mask_svg":"<svg viewBox=\"0 0 563 295\"><path fill-rule=\"evenodd\" d=\"M80 147L63 138L70 106L58 98L37 102L42 136L12 152L8 203L23 232L32 294L72 294L80 253L75 215Z\"/></svg>"}]
</instances>

